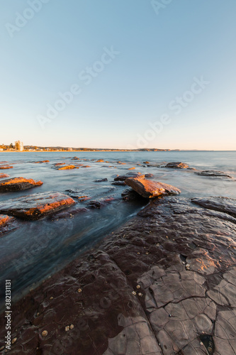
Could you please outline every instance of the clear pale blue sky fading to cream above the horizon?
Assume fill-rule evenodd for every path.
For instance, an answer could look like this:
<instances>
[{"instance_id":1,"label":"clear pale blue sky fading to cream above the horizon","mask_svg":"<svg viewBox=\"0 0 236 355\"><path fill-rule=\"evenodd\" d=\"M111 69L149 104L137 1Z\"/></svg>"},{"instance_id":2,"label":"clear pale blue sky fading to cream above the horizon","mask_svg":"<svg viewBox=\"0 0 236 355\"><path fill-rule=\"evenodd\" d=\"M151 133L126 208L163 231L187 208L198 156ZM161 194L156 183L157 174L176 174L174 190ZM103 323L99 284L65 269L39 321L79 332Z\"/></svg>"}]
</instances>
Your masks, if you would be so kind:
<instances>
[{"instance_id":1,"label":"clear pale blue sky fading to cream above the horizon","mask_svg":"<svg viewBox=\"0 0 236 355\"><path fill-rule=\"evenodd\" d=\"M0 6L0 143L236 150L235 0Z\"/></svg>"}]
</instances>

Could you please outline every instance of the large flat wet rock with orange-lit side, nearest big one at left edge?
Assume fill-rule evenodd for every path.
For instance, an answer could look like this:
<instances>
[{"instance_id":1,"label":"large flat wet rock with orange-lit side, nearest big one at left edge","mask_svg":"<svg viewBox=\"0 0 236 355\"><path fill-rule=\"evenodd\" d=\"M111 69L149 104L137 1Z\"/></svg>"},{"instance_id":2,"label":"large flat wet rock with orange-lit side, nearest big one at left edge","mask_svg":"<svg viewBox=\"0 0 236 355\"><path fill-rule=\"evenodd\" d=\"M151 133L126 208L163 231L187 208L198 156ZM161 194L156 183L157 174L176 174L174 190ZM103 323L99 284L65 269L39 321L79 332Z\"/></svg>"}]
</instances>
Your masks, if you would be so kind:
<instances>
[{"instance_id":1,"label":"large flat wet rock with orange-lit side, nearest big one at left edge","mask_svg":"<svg viewBox=\"0 0 236 355\"><path fill-rule=\"evenodd\" d=\"M60 192L41 192L2 201L0 213L33 220L70 207L74 203L71 197Z\"/></svg>"}]
</instances>

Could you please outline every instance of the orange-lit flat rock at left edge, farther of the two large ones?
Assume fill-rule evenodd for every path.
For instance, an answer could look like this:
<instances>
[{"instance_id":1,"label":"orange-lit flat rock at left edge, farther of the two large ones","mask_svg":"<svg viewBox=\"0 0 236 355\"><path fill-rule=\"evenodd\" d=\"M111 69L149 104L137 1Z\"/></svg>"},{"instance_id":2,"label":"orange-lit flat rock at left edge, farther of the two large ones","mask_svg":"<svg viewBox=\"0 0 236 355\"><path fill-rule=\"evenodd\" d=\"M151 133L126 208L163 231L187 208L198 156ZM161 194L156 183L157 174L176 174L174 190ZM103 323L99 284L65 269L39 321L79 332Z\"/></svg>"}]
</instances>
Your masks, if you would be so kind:
<instances>
[{"instance_id":1,"label":"orange-lit flat rock at left edge, farther of the two large ones","mask_svg":"<svg viewBox=\"0 0 236 355\"><path fill-rule=\"evenodd\" d=\"M12 192L12 191L21 191L27 190L31 187L36 187L43 185L43 182L33 179L26 178L11 178L6 180L1 180L0 182L0 192Z\"/></svg>"}]
</instances>

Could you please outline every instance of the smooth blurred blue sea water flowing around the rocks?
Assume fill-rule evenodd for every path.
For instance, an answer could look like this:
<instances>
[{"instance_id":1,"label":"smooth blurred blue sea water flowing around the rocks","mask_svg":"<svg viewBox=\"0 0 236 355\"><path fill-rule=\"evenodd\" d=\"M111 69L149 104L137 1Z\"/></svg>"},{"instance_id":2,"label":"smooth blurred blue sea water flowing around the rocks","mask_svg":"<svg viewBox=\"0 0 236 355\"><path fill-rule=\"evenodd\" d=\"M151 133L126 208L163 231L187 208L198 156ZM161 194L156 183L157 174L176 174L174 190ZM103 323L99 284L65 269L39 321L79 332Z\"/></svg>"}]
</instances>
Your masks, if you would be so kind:
<instances>
[{"instance_id":1,"label":"smooth blurred blue sea water flowing around the rocks","mask_svg":"<svg viewBox=\"0 0 236 355\"><path fill-rule=\"evenodd\" d=\"M54 163L83 163L72 160L74 155L88 159L84 163L90 168L55 170ZM100 158L110 163L96 163ZM123 202L120 194L125 187L111 185L113 178L128 173L128 168L135 167L135 172L152 173L153 180L179 187L183 197L236 198L234 180L198 176L193 170L155 168L143 164L144 161L157 164L182 161L199 170L224 171L236 180L236 152L0 153L0 160L14 163L13 169L0 170L12 178L22 176L44 182L35 189L1 194L0 204L3 200L35 192L58 191L67 194L69 189L78 189L91 200L113 198L101 209L89 209L74 217L21 221L18 229L1 237L1 283L6 279L12 280L13 299L26 293L28 288L35 287L35 283L65 266L85 249L92 248L143 207L143 202ZM38 160L50 160L50 163L33 163ZM126 164L120 165L118 161ZM107 178L108 182L94 182L99 178ZM86 202L79 202L77 207L86 207ZM4 294L1 296L4 297Z\"/></svg>"}]
</instances>

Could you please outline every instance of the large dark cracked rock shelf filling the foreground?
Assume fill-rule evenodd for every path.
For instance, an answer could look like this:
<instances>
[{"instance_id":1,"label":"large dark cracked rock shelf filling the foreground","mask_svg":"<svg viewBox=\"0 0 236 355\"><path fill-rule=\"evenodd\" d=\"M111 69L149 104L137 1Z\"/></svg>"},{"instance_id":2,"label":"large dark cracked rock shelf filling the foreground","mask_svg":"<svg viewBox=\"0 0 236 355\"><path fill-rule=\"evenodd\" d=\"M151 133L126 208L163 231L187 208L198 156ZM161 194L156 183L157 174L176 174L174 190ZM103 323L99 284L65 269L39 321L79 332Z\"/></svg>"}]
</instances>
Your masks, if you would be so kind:
<instances>
[{"instance_id":1,"label":"large dark cracked rock shelf filling the foreground","mask_svg":"<svg viewBox=\"0 0 236 355\"><path fill-rule=\"evenodd\" d=\"M152 200L13 305L8 354L235 355L236 224L222 214ZM4 346L4 315L0 329Z\"/></svg>"}]
</instances>

